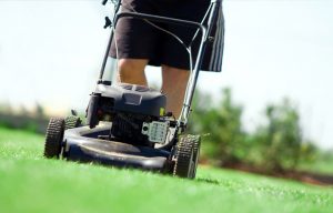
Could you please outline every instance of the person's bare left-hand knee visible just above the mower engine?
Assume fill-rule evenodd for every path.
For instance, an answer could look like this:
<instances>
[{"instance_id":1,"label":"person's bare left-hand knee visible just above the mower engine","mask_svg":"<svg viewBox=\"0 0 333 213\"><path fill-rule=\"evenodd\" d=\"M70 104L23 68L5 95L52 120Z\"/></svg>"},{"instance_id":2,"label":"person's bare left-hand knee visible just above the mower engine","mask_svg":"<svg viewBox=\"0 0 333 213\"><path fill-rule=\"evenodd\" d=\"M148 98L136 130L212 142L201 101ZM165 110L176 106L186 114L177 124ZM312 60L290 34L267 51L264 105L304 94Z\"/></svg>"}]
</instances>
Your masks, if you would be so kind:
<instances>
[{"instance_id":1,"label":"person's bare left-hand knee visible just above the mower engine","mask_svg":"<svg viewBox=\"0 0 333 213\"><path fill-rule=\"evenodd\" d=\"M148 59L120 59L118 82L147 87L144 68Z\"/></svg>"}]
</instances>

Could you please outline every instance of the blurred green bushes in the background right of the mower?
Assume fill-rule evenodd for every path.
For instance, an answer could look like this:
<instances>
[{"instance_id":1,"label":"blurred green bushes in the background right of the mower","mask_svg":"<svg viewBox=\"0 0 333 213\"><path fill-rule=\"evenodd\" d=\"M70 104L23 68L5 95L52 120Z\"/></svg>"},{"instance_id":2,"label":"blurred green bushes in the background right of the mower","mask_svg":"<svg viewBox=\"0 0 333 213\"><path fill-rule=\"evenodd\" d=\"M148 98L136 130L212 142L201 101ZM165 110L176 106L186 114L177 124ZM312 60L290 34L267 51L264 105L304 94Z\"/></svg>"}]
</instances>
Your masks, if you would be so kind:
<instances>
[{"instance_id":1,"label":"blurred green bushes in the background right of the mower","mask_svg":"<svg viewBox=\"0 0 333 213\"><path fill-rule=\"evenodd\" d=\"M246 165L265 172L294 170L311 162L319 150L304 138L297 108L284 99L265 106L264 123L246 132L243 106L224 89L222 100L212 106L208 94L196 92L189 132L202 135L201 161L219 166Z\"/></svg>"}]
</instances>

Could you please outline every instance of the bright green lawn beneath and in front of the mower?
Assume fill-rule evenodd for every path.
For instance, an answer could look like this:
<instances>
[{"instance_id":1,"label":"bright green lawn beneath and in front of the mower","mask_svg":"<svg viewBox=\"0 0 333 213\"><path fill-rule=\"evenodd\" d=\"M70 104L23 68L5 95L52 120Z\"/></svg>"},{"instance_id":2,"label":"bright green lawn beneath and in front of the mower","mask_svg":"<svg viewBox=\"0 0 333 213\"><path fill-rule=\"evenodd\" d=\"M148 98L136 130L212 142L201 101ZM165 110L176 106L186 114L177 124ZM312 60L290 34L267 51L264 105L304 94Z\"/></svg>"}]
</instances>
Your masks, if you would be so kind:
<instances>
[{"instance_id":1,"label":"bright green lawn beneath and in front of the mower","mask_svg":"<svg viewBox=\"0 0 333 213\"><path fill-rule=\"evenodd\" d=\"M333 187L200 168L194 181L42 158L0 129L0 212L333 212Z\"/></svg>"}]
</instances>

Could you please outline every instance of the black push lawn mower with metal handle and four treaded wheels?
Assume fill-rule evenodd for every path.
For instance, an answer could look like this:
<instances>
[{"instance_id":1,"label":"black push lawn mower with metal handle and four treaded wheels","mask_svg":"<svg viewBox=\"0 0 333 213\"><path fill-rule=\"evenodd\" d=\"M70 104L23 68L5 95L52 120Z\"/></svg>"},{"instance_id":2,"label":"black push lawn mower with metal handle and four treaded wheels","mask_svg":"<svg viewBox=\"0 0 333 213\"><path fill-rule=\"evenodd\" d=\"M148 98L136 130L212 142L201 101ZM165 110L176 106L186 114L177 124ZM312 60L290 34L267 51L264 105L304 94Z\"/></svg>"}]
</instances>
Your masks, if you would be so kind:
<instances>
[{"instance_id":1,"label":"black push lawn mower with metal handle and four treaded wheels","mask_svg":"<svg viewBox=\"0 0 333 213\"><path fill-rule=\"evenodd\" d=\"M107 0L103 1L105 3ZM216 18L220 4L220 0L212 0L204 20L199 23L121 12L121 1L114 2L113 19L105 18L105 28L111 27L111 36L95 90L87 108L87 122L83 123L74 111L68 118L51 118L46 134L44 156L194 179L201 138L184 132L206 42L212 39L209 37L212 20ZM198 57L194 63L190 60L191 74L179 118L165 111L168 100L162 92L143 85L113 83L104 78L114 29L119 19L124 17L193 28L193 39L200 34Z\"/></svg>"}]
</instances>

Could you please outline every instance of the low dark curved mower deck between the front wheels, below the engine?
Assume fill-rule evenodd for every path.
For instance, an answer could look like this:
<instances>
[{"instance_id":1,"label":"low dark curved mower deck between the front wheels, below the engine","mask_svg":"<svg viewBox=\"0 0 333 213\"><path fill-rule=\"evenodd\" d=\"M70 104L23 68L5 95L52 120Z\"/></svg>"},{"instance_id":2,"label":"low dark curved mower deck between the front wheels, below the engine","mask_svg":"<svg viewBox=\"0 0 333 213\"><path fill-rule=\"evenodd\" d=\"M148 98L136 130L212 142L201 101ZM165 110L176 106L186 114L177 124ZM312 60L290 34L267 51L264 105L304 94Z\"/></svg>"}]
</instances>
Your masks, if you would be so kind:
<instances>
[{"instance_id":1,"label":"low dark curved mower deck between the front wheels, below the engine","mask_svg":"<svg viewBox=\"0 0 333 213\"><path fill-rule=\"evenodd\" d=\"M139 168L163 171L170 152L148 146L98 139L108 135L111 124L95 129L89 126L69 129L64 132L63 158L70 161L92 162L120 168Z\"/></svg>"}]
</instances>

